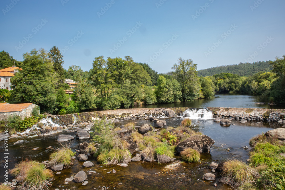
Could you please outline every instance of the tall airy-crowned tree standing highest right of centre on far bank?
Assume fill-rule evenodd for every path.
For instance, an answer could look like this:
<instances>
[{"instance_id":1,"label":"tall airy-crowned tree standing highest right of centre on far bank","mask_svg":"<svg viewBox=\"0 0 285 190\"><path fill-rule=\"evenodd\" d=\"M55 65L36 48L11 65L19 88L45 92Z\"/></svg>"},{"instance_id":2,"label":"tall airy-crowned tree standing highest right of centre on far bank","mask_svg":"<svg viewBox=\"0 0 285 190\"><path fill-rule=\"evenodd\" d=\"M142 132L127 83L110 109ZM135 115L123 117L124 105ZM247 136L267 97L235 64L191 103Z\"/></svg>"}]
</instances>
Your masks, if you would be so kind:
<instances>
[{"instance_id":1,"label":"tall airy-crowned tree standing highest right of centre on far bank","mask_svg":"<svg viewBox=\"0 0 285 190\"><path fill-rule=\"evenodd\" d=\"M201 89L197 77L197 64L194 64L191 59L178 59L178 64L174 64L171 68L174 77L181 86L182 100L195 99Z\"/></svg>"}]
</instances>

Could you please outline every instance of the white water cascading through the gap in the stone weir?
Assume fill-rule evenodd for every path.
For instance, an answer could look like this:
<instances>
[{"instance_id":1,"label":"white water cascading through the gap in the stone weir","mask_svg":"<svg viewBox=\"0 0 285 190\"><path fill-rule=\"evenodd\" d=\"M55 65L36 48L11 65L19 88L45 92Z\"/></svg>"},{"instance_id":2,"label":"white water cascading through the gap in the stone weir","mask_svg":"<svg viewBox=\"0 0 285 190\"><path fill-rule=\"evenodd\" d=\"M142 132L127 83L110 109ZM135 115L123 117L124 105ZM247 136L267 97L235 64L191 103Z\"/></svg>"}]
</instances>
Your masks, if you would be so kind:
<instances>
[{"instance_id":1,"label":"white water cascading through the gap in the stone weir","mask_svg":"<svg viewBox=\"0 0 285 190\"><path fill-rule=\"evenodd\" d=\"M190 108L182 113L181 117L190 119L213 119L213 112L205 108Z\"/></svg>"}]
</instances>

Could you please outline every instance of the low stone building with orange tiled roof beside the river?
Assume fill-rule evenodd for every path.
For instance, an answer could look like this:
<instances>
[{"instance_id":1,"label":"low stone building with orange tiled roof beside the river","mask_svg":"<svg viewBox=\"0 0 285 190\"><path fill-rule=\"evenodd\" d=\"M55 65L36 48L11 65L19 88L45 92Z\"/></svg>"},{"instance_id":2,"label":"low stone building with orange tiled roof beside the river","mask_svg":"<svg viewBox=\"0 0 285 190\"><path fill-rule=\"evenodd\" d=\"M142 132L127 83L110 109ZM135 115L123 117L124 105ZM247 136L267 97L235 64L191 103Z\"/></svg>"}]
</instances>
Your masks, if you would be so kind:
<instances>
[{"instance_id":1,"label":"low stone building with orange tiled roof beside the river","mask_svg":"<svg viewBox=\"0 0 285 190\"><path fill-rule=\"evenodd\" d=\"M38 113L40 109L38 105L33 103L25 104L9 104L9 103L0 103L0 120L7 119L9 116L19 115L22 119L25 117L32 116L32 110L37 108Z\"/></svg>"}]
</instances>

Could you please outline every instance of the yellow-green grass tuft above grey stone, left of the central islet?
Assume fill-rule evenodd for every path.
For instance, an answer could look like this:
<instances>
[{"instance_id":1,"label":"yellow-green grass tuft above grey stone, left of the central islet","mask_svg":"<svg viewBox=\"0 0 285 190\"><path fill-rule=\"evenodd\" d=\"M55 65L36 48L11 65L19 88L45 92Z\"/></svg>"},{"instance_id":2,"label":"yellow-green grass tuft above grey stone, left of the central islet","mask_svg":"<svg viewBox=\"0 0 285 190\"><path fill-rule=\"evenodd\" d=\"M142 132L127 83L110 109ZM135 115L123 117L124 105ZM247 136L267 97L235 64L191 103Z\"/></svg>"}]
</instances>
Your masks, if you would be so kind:
<instances>
[{"instance_id":1,"label":"yellow-green grass tuft above grey stone, left of the central islet","mask_svg":"<svg viewBox=\"0 0 285 190\"><path fill-rule=\"evenodd\" d=\"M72 152L70 146L62 146L61 148L58 148L50 155L49 164L51 166L55 166L57 164L63 164L64 167L68 168L73 164L71 159L73 156L74 152Z\"/></svg>"}]
</instances>

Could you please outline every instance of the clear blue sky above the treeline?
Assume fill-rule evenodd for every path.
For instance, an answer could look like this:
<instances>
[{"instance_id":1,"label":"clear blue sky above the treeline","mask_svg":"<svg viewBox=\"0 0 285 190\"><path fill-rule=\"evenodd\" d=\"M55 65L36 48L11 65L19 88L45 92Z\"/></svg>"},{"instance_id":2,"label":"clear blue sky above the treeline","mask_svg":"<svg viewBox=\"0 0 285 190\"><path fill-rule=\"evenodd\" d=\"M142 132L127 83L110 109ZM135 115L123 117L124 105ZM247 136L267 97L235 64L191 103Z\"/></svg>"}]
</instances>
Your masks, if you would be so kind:
<instances>
[{"instance_id":1,"label":"clear blue sky above the treeline","mask_svg":"<svg viewBox=\"0 0 285 190\"><path fill-rule=\"evenodd\" d=\"M89 70L101 55L162 73L179 57L200 70L285 54L284 0L1 0L0 8L0 51L22 61L32 48L57 46L66 69Z\"/></svg>"}]
</instances>

